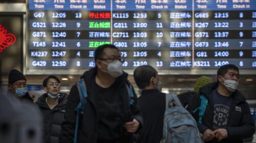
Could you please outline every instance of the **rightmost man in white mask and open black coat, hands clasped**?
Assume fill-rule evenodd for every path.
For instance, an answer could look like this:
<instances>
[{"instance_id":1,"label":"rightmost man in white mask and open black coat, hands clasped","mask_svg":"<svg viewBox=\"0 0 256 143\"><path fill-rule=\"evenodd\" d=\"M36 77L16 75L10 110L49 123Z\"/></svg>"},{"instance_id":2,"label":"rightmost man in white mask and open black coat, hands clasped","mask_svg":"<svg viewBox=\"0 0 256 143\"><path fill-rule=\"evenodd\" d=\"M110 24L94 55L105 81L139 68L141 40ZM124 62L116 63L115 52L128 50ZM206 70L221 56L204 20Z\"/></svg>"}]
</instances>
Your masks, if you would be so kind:
<instances>
[{"instance_id":1,"label":"rightmost man in white mask and open black coat, hands clasped","mask_svg":"<svg viewBox=\"0 0 256 143\"><path fill-rule=\"evenodd\" d=\"M243 139L253 135L255 128L248 103L237 90L239 69L235 65L223 65L217 75L218 82L200 88L199 94L188 103L188 110L198 121L205 142L242 143ZM200 111L196 109L203 96L208 103L200 120Z\"/></svg>"}]
</instances>

